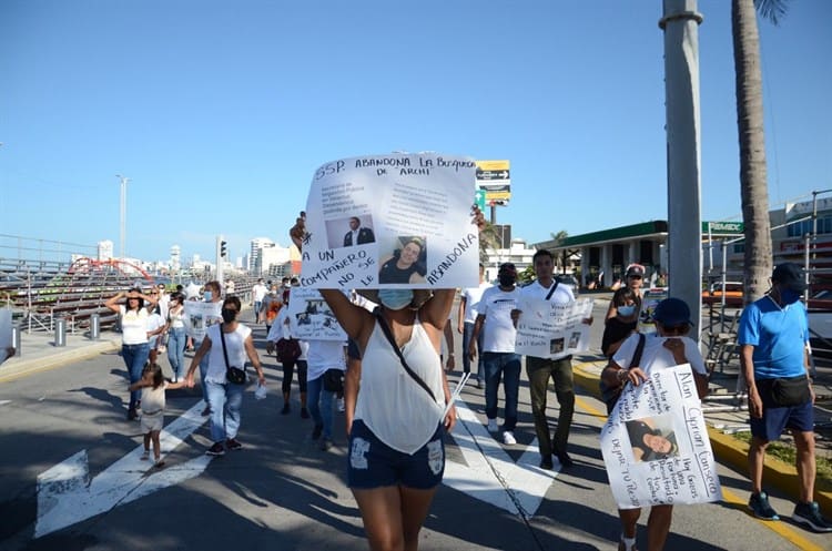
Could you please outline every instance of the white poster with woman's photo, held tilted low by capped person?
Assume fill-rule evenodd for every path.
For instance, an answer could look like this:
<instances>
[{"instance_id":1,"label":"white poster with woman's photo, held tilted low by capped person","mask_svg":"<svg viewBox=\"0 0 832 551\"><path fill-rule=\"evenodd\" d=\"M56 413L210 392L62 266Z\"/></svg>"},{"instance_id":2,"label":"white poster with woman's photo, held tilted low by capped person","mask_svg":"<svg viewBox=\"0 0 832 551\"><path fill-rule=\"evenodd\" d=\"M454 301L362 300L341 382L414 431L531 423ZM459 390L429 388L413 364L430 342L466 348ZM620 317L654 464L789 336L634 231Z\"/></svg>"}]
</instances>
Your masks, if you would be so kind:
<instances>
[{"instance_id":1,"label":"white poster with woman's photo, held tilted low by capped person","mask_svg":"<svg viewBox=\"0 0 832 551\"><path fill-rule=\"evenodd\" d=\"M601 429L601 452L621 509L722 499L690 365L627 385Z\"/></svg>"}]
</instances>

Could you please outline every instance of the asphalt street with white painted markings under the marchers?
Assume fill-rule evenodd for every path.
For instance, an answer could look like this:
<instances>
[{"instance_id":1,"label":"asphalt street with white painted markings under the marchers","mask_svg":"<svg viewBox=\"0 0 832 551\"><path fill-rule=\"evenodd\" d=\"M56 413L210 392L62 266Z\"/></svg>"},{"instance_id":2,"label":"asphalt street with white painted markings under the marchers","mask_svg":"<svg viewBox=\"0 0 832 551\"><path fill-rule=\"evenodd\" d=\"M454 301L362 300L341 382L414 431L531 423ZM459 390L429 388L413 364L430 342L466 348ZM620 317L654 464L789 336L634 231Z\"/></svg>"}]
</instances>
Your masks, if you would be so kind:
<instances>
[{"instance_id":1,"label":"asphalt street with white painted markings under the marchers","mask_svg":"<svg viewBox=\"0 0 832 551\"><path fill-rule=\"evenodd\" d=\"M600 341L603 298L596 297L593 349ZM166 466L159 472L138 461L139 424L124 420L125 371L116 353L118 335L104 333L97 343L80 335L68 336L65 347L54 347L50 337L24 334L21 356L0 366L0 416L6 420L0 435L8 443L6 453L0 455L0 549L366 549L361 517L344 480L343 416L336 414L336 446L328 452L318 450L311 439L311 421L298 417L296 385L293 411L281 416L281 369L273 357L265 356L264 328L254 328L270 395L264 400L255 400L251 391L245 395L240 435L245 449L211 460L203 456L210 445L207 426L195 425L195 430L183 429L181 441L172 442L169 449L163 445ZM457 358L460 341L457 335ZM168 367L166 359L161 363ZM536 467L525 468L537 477L541 498L537 509L526 514L516 512L516 507L515 512L507 508L518 499L534 502L522 500L529 498L526 493L537 492L519 491L511 480L498 490L479 475L464 489L443 484L425 522L420 549L616 549L618 520L598 446L605 417L603 405L596 396L601 363L598 355L588 354L576 358L575 365L579 398L570 453L576 467L551 475ZM458 371L453 374L451 385L458 378ZM461 399L473 421L460 422L447 439L448 461L454 465L446 470L446 482L451 470L465 472L466 466L473 470L478 459L471 456L468 442L475 442L481 457L495 463L499 456L500 460L508 458L505 465L536 465L525 375L516 446L506 447L483 435L481 390L470 385ZM193 411L201 409L200 402L196 390L170 391L166 428L186 420L187 411L193 417ZM549 412L550 419L557 417L554 392L549 395ZM194 424L199 424L199 415L195 417ZM716 430L711 431L711 442L722 463L719 475L726 499L676 508L667 549L832 547L830 534L808 532L789 520L765 523L751 518L745 510L750 483L742 446ZM87 450L83 458L78 457L81 450ZM64 460L70 457L77 459L73 468L79 477L74 483L48 487L44 473L54 473L57 465L69 470ZM795 482L787 468L778 467L772 472L778 470L784 472L771 488L772 504L781 517L788 517ZM777 478L767 472L767 480L770 477ZM126 488L125 481L133 478L139 481ZM111 502L102 506L85 497L84 491L89 493L110 479L126 488L114 483ZM508 504L500 504L497 494ZM61 507L65 517L79 520L38 534L38 527L45 530L47 526L35 522L38 517ZM97 507L104 509L92 513ZM832 511L823 502L822 508ZM643 527L639 542L643 549Z\"/></svg>"}]
</instances>

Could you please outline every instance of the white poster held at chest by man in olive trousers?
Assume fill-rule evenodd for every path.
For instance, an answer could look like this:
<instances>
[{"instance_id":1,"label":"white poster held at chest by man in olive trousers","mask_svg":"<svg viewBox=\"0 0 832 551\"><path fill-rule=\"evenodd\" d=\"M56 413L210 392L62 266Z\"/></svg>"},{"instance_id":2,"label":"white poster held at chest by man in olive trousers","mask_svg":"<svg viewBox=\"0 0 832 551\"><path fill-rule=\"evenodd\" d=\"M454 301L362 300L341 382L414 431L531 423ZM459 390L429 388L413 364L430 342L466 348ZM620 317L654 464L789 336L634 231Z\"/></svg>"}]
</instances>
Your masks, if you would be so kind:
<instances>
[{"instance_id":1,"label":"white poster held at chest by man in olive trousers","mask_svg":"<svg viewBox=\"0 0 832 551\"><path fill-rule=\"evenodd\" d=\"M545 298L520 296L517 308L515 351L536 358L551 358L589 348L589 326L584 319L592 316L592 299L554 304Z\"/></svg>"}]
</instances>

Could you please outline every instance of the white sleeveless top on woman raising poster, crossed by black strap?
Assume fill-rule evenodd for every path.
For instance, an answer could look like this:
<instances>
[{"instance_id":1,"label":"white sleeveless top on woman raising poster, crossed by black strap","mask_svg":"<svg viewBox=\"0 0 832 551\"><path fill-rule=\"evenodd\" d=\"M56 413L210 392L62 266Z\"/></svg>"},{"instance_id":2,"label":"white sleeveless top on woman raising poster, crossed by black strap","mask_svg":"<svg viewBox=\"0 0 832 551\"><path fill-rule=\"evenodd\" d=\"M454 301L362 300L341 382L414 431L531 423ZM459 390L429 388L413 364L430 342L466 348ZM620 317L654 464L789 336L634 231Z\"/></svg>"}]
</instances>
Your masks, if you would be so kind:
<instances>
[{"instance_id":1,"label":"white sleeveless top on woman raising poster, crossed by black strap","mask_svg":"<svg viewBox=\"0 0 832 551\"><path fill-rule=\"evenodd\" d=\"M445 410L442 363L418 316L402 354L410 369L433 390L435 402L405 371L393 345L376 325L362 358L355 419L361 419L384 443L413 455L436 432Z\"/></svg>"}]
</instances>

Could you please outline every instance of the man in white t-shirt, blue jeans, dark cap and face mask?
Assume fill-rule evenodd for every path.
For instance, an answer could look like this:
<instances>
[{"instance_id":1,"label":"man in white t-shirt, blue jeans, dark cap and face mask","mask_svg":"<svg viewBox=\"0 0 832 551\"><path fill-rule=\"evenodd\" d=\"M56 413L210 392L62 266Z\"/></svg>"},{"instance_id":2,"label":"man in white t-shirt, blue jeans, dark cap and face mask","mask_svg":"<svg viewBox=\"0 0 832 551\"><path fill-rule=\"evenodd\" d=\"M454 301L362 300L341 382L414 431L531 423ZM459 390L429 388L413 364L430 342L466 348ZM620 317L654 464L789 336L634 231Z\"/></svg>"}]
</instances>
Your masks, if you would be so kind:
<instances>
[{"instance_id":1,"label":"man in white t-shirt, blue jeans, dark cap and face mask","mask_svg":"<svg viewBox=\"0 0 832 551\"><path fill-rule=\"evenodd\" d=\"M517 329L511 319L511 312L517 309L520 290L515 286L517 269L511 263L505 263L497 273L499 285L489 287L483 293L477 306L477 320L468 344L470 359L477 355L477 340L483 334L483 357L486 382L486 417L488 430L497 432L497 390L500 379L506 396L506 416L503 424L503 441L506 445L517 443L514 430L517 425L517 396L520 388L520 356L515 353Z\"/></svg>"}]
</instances>

